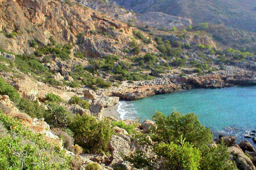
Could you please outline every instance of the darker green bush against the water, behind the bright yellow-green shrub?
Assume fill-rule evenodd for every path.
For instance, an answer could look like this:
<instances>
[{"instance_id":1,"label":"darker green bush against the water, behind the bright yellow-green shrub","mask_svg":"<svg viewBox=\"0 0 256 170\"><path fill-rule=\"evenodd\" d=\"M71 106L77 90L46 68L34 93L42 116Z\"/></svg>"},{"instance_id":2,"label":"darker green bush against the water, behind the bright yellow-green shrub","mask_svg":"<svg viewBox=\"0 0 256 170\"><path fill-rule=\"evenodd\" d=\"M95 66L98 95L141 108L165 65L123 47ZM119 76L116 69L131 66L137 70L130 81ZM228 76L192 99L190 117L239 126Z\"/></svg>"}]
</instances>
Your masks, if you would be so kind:
<instances>
[{"instance_id":1,"label":"darker green bush against the water, behind the bright yellow-green shrub","mask_svg":"<svg viewBox=\"0 0 256 170\"><path fill-rule=\"evenodd\" d=\"M201 126L197 116L193 113L182 115L178 112L172 112L165 116L163 113L156 111L153 120L157 125L157 128L153 130L155 141L168 144L184 137L186 142L195 146L212 142L210 129Z\"/></svg>"}]
</instances>

